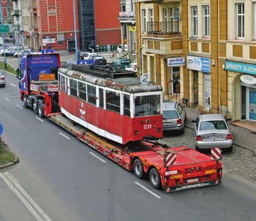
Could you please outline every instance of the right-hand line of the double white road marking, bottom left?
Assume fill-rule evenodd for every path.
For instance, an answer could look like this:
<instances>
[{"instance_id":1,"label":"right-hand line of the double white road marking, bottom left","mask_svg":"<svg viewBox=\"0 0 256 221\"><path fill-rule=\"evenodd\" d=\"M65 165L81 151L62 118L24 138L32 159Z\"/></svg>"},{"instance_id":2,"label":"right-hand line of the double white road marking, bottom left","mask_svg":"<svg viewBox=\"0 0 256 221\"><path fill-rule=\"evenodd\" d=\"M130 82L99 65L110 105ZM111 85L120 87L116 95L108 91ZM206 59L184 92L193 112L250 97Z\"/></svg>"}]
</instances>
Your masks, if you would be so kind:
<instances>
[{"instance_id":1,"label":"right-hand line of the double white road marking, bottom left","mask_svg":"<svg viewBox=\"0 0 256 221\"><path fill-rule=\"evenodd\" d=\"M27 198L27 200L31 203L31 205L33 205L34 208L36 208L36 210L38 210L38 212L42 215L42 217L44 217L45 220L47 221L52 221L50 219L50 217L47 216L47 214L44 212L44 210L42 210L41 207L39 207L38 203L36 203L31 197L30 195L28 195L28 193L24 190L24 188L21 187L21 185L18 184L18 182L15 181L15 179L13 179L13 177L10 175L10 173L5 172L4 173L5 176L7 176L7 178L15 185L15 187L23 194L23 196L25 196L25 198Z\"/></svg>"}]
</instances>

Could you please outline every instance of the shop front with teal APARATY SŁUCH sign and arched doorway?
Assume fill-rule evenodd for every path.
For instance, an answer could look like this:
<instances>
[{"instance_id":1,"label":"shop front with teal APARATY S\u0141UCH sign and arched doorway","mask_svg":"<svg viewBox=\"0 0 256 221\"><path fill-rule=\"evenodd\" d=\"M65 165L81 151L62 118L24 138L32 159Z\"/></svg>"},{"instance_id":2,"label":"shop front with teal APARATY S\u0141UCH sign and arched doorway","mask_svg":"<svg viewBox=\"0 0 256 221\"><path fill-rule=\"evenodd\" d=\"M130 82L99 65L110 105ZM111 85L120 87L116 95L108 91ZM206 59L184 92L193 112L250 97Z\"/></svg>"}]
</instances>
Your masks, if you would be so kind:
<instances>
[{"instance_id":1,"label":"shop front with teal APARATY S\u0141UCH sign and arched doorway","mask_svg":"<svg viewBox=\"0 0 256 221\"><path fill-rule=\"evenodd\" d=\"M234 120L256 121L256 65L227 60L225 68L230 84L229 113Z\"/></svg>"}]
</instances>

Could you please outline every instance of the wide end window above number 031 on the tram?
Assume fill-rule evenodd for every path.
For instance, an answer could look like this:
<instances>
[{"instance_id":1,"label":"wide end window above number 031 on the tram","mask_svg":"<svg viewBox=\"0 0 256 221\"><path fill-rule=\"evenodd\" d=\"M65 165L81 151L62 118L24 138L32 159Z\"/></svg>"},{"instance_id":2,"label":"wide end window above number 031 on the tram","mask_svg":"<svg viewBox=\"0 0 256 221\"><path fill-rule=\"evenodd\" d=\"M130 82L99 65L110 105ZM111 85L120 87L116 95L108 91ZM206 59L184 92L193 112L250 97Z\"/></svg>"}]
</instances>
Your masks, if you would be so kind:
<instances>
[{"instance_id":1,"label":"wide end window above number 031 on the tram","mask_svg":"<svg viewBox=\"0 0 256 221\"><path fill-rule=\"evenodd\" d=\"M160 95L134 97L135 117L160 114Z\"/></svg>"}]
</instances>

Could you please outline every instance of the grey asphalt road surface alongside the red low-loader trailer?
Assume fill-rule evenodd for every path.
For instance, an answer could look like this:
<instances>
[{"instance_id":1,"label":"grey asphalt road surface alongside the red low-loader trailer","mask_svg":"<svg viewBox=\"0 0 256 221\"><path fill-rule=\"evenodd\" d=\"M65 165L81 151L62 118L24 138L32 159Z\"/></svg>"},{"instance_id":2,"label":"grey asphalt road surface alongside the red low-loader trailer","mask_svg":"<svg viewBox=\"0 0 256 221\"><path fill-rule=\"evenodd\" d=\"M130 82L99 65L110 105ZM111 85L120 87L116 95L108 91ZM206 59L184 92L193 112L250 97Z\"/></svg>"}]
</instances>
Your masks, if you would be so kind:
<instances>
[{"instance_id":1,"label":"grey asphalt road surface alongside the red low-loader trailer","mask_svg":"<svg viewBox=\"0 0 256 221\"><path fill-rule=\"evenodd\" d=\"M1 221L255 220L255 184L225 173L216 187L171 194L154 190L148 181L23 109L18 80L10 75L6 88L0 88L0 122L2 137L20 159L0 171ZM25 191L23 199L32 210L10 183L19 193L18 187Z\"/></svg>"}]
</instances>

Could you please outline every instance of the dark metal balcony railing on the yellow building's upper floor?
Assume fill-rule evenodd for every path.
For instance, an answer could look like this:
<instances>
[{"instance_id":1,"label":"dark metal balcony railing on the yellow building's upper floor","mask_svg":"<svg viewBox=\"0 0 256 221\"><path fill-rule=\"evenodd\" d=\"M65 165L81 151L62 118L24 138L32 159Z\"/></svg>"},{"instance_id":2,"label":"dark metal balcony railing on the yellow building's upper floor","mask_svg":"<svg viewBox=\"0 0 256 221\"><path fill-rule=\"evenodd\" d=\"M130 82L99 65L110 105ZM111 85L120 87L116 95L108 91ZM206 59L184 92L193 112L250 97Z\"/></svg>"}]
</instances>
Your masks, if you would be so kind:
<instances>
[{"instance_id":1,"label":"dark metal balcony railing on the yellow building's upper floor","mask_svg":"<svg viewBox=\"0 0 256 221\"><path fill-rule=\"evenodd\" d=\"M179 19L172 18L170 22L148 22L146 33L159 37L179 37Z\"/></svg>"}]
</instances>

